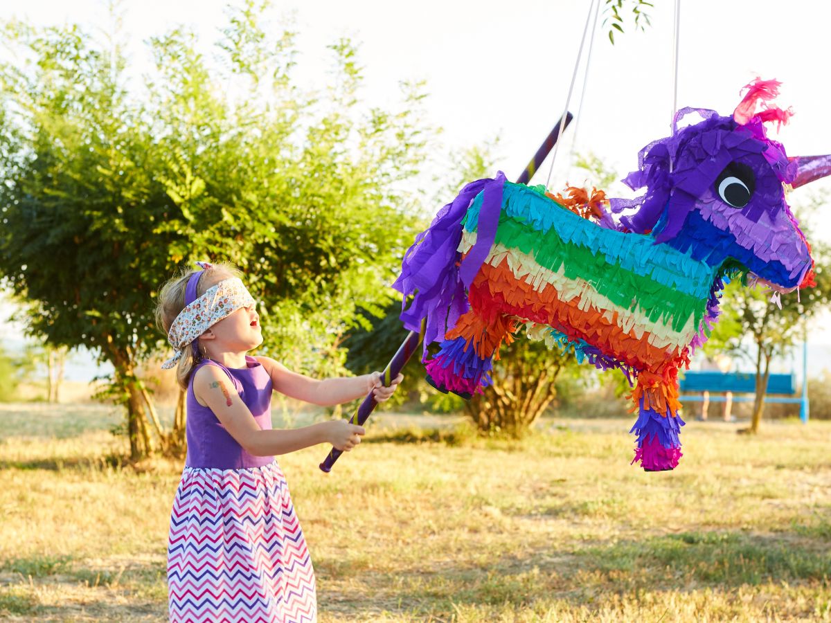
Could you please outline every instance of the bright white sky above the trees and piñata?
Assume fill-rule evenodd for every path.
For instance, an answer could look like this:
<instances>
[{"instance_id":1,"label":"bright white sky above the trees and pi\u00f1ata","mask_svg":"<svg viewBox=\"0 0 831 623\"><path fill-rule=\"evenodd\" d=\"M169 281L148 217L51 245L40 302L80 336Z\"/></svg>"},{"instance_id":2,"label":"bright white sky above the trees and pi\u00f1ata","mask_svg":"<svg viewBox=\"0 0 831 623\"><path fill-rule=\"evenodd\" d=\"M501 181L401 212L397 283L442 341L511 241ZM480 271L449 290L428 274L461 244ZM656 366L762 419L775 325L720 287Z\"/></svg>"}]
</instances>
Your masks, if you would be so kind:
<instances>
[{"instance_id":1,"label":"bright white sky above the trees and pi\u00f1ata","mask_svg":"<svg viewBox=\"0 0 831 623\"><path fill-rule=\"evenodd\" d=\"M607 168L624 176L637 167L637 152L669 133L673 109L673 11L675 2L654 0L652 27L634 32L630 12L615 45L597 24L588 73L581 67L569 109L580 111L577 144L569 130L558 151L551 185L581 183L568 166L569 152L592 151ZM227 2L217 0L125 0L124 27L130 37L130 72L150 70L146 40L179 24L194 30L207 52L227 21ZM740 89L755 76L783 82L777 102L795 115L779 134L789 155L831 153L828 110L831 82L827 26L831 2L715 2L681 0L678 38L678 106L729 114ZM399 101L402 80L425 80L426 112L443 129L443 150L481 145L499 136L498 168L515 178L566 104L589 0L565 2L372 2L303 0L273 2L272 27L287 24L297 34L296 76L322 87L330 79L327 45L339 37L360 43L365 88L371 105ZM107 28L101 0L27 0L0 3L0 20L16 17L36 25L77 22L89 32ZM583 49L583 64L589 43ZM4 52L0 52L0 55ZM585 97L581 105L583 76ZM544 182L548 163L534 182ZM827 192L828 184L818 192ZM799 196L791 195L797 217ZM613 191L621 191L616 185ZM630 191L627 196L632 196ZM831 243L831 219L811 223ZM0 307L0 313L7 307ZM6 315L2 315L5 320ZM831 323L828 318L823 326ZM15 334L8 323L0 331ZM818 326L831 343L831 332Z\"/></svg>"}]
</instances>

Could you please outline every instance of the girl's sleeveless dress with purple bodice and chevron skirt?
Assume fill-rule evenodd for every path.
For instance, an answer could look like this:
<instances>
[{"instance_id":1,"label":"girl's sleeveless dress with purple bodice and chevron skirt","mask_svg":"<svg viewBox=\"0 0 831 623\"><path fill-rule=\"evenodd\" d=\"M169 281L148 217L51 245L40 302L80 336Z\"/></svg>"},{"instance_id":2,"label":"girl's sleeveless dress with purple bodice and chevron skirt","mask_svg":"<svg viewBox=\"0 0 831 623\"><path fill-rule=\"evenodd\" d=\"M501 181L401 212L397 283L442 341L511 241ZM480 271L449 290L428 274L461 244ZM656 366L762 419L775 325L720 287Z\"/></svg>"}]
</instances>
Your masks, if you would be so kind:
<instances>
[{"instance_id":1,"label":"girl's sleeveless dress with purple bodice and chevron skirt","mask_svg":"<svg viewBox=\"0 0 831 623\"><path fill-rule=\"evenodd\" d=\"M196 370L217 365L270 429L271 378L245 359L242 369L204 360L190 377L188 455L167 550L170 621L317 621L312 560L283 471L273 457L248 454L194 396Z\"/></svg>"}]
</instances>

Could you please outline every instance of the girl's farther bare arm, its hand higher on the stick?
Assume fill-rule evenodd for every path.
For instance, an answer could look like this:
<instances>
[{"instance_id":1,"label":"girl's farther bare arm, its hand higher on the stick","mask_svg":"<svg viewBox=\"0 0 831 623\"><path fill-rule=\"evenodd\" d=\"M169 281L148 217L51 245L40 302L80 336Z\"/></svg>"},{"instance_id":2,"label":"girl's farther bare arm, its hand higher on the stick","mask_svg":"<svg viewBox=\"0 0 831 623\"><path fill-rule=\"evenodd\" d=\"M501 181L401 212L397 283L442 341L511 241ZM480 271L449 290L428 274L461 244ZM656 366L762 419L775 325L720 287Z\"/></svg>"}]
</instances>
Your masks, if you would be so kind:
<instances>
[{"instance_id":1,"label":"girl's farther bare arm, its hand higher on the stick","mask_svg":"<svg viewBox=\"0 0 831 623\"><path fill-rule=\"evenodd\" d=\"M255 359L268 371L274 390L289 398L324 407L342 405L350 400L363 398L370 391L375 395L377 402L384 402L404 379L404 376L398 375L389 387L381 383L380 372L317 380L288 370L285 365L274 361L271 357L255 357Z\"/></svg>"}]
</instances>

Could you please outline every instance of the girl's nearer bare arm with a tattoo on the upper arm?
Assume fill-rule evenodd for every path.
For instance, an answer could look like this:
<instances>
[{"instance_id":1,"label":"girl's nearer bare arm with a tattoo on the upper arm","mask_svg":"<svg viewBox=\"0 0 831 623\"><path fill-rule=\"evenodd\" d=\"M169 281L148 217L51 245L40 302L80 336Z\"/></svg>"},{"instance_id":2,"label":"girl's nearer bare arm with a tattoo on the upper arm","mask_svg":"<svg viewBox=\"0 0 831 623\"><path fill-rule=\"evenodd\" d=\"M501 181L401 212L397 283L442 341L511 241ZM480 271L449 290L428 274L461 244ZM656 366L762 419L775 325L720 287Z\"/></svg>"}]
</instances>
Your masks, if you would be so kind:
<instances>
[{"instance_id":1,"label":"girl's nearer bare arm with a tattoo on the upper arm","mask_svg":"<svg viewBox=\"0 0 831 623\"><path fill-rule=\"evenodd\" d=\"M196 370L194 395L200 405L214 412L237 443L254 456L288 454L325 443L339 450L351 450L361 443L364 434L362 426L349 424L345 419L332 419L301 429L263 430L228 375L215 365L204 365Z\"/></svg>"}]
</instances>

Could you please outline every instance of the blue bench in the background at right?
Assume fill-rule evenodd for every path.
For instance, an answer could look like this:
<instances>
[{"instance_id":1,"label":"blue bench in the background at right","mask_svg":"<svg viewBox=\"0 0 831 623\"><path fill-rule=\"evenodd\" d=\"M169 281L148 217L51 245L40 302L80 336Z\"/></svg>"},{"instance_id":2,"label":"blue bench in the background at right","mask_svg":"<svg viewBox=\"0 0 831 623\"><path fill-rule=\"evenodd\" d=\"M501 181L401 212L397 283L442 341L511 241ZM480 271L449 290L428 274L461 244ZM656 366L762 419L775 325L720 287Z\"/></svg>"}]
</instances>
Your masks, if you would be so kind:
<instances>
[{"instance_id":1,"label":"blue bench in the background at right","mask_svg":"<svg viewBox=\"0 0 831 623\"><path fill-rule=\"evenodd\" d=\"M692 402L702 402L704 399L701 395L690 395L685 392L711 392L711 393L725 393L732 392L735 394L755 394L756 392L756 375L754 372L719 372L717 370L711 371L687 371L681 378L681 400L688 400ZM774 403L799 403L799 418L803 422L807 422L809 418L808 405L808 384L803 383L802 395L799 398L785 397L784 395L793 396L796 393L796 378L794 375L772 374L768 377L768 386L765 395L765 402ZM779 394L779 395L770 395ZM713 402L726 402L726 396L710 396L709 400ZM735 396L732 398L734 402L751 402L755 400L755 396Z\"/></svg>"}]
</instances>

